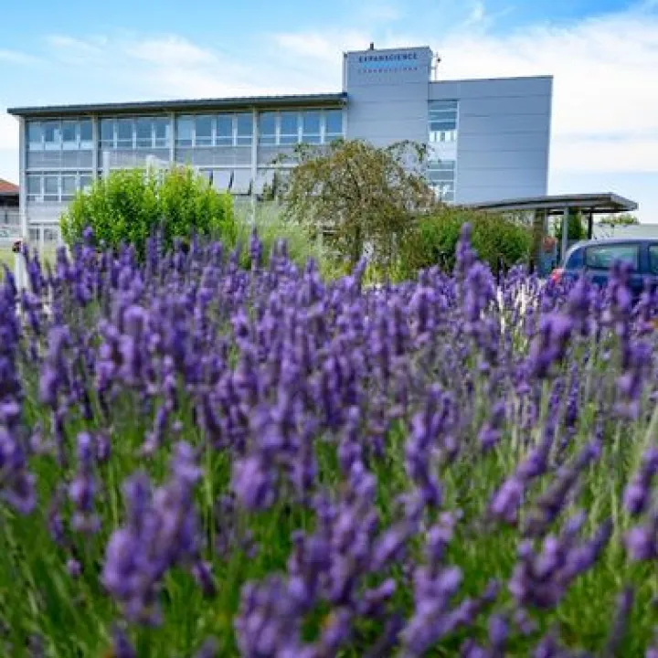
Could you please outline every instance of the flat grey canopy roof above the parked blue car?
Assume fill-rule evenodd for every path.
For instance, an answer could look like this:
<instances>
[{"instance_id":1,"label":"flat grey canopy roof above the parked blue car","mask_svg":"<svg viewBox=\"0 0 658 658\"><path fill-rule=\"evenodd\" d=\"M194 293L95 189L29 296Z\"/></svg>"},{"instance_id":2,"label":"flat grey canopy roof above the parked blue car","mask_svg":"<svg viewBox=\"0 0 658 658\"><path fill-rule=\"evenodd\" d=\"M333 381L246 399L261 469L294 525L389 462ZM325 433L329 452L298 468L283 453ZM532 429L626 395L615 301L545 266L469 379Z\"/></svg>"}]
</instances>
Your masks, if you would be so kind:
<instances>
[{"instance_id":1,"label":"flat grey canopy roof above the parked blue car","mask_svg":"<svg viewBox=\"0 0 658 658\"><path fill-rule=\"evenodd\" d=\"M547 215L562 215L565 208L575 208L592 213L593 215L609 215L637 210L638 205L635 201L631 201L631 199L613 194L612 192L606 192L605 194L527 196L525 198L468 204L468 207L497 212L542 210Z\"/></svg>"}]
</instances>

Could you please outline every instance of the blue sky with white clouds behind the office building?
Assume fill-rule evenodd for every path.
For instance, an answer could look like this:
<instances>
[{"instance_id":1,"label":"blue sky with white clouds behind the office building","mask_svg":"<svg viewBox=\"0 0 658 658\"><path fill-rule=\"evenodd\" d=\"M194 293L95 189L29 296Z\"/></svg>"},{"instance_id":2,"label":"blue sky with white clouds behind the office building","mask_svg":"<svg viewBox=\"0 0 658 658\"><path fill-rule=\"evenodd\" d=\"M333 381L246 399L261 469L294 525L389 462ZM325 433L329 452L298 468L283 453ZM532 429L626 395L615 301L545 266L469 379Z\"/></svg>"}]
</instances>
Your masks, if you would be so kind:
<instances>
[{"instance_id":1,"label":"blue sky with white clouds behind the office building","mask_svg":"<svg viewBox=\"0 0 658 658\"><path fill-rule=\"evenodd\" d=\"M549 192L613 190L658 223L658 0L9 3L0 177L6 107L338 90L341 52L370 41L428 44L446 79L553 74Z\"/></svg>"}]
</instances>

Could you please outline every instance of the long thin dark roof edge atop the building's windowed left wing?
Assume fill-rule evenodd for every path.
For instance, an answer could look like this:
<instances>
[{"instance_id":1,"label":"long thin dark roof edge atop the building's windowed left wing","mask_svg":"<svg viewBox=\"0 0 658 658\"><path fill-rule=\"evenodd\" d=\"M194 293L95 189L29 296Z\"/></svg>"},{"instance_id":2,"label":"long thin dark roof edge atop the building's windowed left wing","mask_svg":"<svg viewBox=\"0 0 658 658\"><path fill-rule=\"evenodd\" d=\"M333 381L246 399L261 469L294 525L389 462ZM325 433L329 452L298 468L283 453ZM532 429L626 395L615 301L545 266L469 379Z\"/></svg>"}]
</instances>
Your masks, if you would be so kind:
<instances>
[{"instance_id":1,"label":"long thin dark roof edge atop the building's windowed left wing","mask_svg":"<svg viewBox=\"0 0 658 658\"><path fill-rule=\"evenodd\" d=\"M248 110L250 108L279 109L287 107L341 107L347 101L344 91L338 93L303 94L287 96L243 96L221 99L194 99L179 101L137 101L124 103L98 103L83 105L44 105L15 107L7 112L19 117L60 117L80 114L133 114L162 111L217 111Z\"/></svg>"}]
</instances>

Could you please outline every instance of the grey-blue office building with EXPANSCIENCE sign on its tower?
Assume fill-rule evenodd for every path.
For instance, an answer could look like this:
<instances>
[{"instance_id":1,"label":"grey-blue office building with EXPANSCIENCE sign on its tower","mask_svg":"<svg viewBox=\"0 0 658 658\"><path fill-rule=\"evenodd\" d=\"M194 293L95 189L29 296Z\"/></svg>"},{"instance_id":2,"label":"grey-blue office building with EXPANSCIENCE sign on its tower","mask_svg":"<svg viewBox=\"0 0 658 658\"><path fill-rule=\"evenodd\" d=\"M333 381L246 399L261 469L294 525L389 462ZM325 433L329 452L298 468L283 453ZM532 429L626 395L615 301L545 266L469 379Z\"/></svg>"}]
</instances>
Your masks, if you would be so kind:
<instances>
[{"instance_id":1,"label":"grey-blue office building with EXPANSCIENCE sign on its tower","mask_svg":"<svg viewBox=\"0 0 658 658\"><path fill-rule=\"evenodd\" d=\"M256 196L277 155L341 137L427 143L447 202L546 194L552 78L432 80L434 62L430 48L371 47L345 53L337 93L11 109L25 226L51 235L95 176L149 162L192 164L218 189Z\"/></svg>"}]
</instances>

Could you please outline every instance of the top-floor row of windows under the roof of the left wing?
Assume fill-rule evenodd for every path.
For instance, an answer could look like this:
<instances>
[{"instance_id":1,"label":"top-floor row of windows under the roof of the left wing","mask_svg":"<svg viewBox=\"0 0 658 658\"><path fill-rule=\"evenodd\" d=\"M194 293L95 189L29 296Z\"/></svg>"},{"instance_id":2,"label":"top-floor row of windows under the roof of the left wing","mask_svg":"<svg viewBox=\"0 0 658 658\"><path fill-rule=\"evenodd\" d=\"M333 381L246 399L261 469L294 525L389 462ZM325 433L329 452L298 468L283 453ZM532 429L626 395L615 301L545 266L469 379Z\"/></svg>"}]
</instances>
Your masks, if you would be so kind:
<instances>
[{"instance_id":1,"label":"top-floor row of windows under the roof of the left wing","mask_svg":"<svg viewBox=\"0 0 658 658\"><path fill-rule=\"evenodd\" d=\"M178 146L250 146L253 114L208 114L178 116L175 143ZM265 145L327 143L343 136L343 111L309 110L260 112L259 142ZM169 148L172 123L168 117L112 117L99 122L103 150ZM91 150L90 119L27 123L29 151Z\"/></svg>"}]
</instances>

